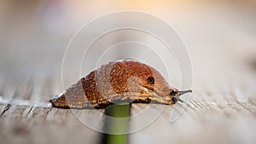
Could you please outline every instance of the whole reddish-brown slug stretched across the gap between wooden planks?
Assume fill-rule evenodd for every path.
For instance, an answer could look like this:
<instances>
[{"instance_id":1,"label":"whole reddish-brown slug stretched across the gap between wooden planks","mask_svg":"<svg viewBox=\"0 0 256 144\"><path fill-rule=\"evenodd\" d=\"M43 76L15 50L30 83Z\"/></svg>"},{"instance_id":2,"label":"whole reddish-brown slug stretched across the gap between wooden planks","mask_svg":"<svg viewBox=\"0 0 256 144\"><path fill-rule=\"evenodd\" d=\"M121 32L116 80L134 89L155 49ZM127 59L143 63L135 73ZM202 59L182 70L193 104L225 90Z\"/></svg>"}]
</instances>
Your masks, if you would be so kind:
<instances>
[{"instance_id":1,"label":"whole reddish-brown slug stretched across the gap between wooden planks","mask_svg":"<svg viewBox=\"0 0 256 144\"><path fill-rule=\"evenodd\" d=\"M49 102L62 108L105 108L113 103L158 103L182 101L180 91L171 87L151 66L134 60L118 60L102 65L71 85Z\"/></svg>"}]
</instances>

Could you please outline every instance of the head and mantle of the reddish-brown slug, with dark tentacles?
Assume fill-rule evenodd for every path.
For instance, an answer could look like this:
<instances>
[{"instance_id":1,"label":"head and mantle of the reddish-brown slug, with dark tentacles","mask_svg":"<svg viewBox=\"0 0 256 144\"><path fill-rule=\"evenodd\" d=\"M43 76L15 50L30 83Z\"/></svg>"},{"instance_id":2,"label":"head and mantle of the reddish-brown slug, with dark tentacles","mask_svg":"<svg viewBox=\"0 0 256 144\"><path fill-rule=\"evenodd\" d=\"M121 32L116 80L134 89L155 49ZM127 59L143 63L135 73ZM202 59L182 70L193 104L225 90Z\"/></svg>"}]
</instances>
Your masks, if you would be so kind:
<instances>
[{"instance_id":1,"label":"head and mantle of the reddish-brown slug, with dark tentacles","mask_svg":"<svg viewBox=\"0 0 256 144\"><path fill-rule=\"evenodd\" d=\"M116 93L132 92L131 95L137 96L137 99L143 100L143 97L149 97L154 103L174 104L181 101L180 95L191 92L191 90L179 91L172 88L160 72L137 61L124 60L117 62L113 66L112 76L114 77L111 84ZM124 85L122 89L119 89L120 84Z\"/></svg>"}]
</instances>

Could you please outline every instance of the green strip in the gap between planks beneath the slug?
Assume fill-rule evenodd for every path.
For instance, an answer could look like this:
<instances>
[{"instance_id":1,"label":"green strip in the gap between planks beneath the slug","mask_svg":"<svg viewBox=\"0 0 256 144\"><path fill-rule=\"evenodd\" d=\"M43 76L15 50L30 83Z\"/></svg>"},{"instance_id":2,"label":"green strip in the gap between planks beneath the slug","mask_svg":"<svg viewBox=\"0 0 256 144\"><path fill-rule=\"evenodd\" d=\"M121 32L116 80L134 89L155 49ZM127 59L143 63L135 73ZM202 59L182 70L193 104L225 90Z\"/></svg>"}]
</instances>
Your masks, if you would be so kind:
<instances>
[{"instance_id":1,"label":"green strip in the gap between planks beneath the slug","mask_svg":"<svg viewBox=\"0 0 256 144\"><path fill-rule=\"evenodd\" d=\"M107 144L127 144L129 129L130 104L113 104L106 108L105 114L109 118L105 119L105 135ZM121 135L115 135L121 134Z\"/></svg>"}]
</instances>

